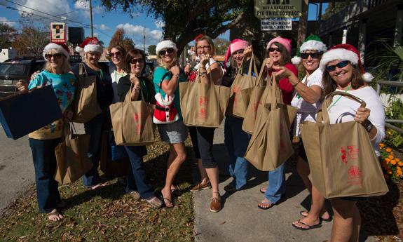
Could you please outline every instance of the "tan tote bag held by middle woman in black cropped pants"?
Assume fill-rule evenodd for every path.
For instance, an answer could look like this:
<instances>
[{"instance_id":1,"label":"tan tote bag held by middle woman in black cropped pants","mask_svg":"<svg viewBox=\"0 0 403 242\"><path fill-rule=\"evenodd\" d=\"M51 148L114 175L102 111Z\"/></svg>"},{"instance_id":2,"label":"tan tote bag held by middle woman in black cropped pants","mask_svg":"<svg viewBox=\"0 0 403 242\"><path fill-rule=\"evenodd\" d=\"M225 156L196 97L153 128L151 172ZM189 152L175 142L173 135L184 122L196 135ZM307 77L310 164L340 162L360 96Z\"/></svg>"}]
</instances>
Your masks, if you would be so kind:
<instances>
[{"instance_id":1,"label":"tan tote bag held by middle woman in black cropped pants","mask_svg":"<svg viewBox=\"0 0 403 242\"><path fill-rule=\"evenodd\" d=\"M231 88L225 86L201 83L200 74L196 81L179 83L184 124L218 128L224 119L230 92Z\"/></svg>"}]
</instances>

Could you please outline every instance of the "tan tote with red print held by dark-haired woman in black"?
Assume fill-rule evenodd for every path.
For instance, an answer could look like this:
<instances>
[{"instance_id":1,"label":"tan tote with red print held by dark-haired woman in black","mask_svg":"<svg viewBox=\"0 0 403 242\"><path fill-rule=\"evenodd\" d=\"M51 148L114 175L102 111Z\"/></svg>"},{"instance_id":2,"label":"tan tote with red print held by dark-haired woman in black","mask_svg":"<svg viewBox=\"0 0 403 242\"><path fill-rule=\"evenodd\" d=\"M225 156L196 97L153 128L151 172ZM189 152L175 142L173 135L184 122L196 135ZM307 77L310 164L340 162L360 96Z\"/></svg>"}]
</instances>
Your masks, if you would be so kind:
<instances>
[{"instance_id":1,"label":"tan tote with red print held by dark-haired woman in black","mask_svg":"<svg viewBox=\"0 0 403 242\"><path fill-rule=\"evenodd\" d=\"M152 144L156 142L152 107L144 100L132 101L130 93L128 91L123 102L109 106L115 142L127 146Z\"/></svg>"}]
</instances>

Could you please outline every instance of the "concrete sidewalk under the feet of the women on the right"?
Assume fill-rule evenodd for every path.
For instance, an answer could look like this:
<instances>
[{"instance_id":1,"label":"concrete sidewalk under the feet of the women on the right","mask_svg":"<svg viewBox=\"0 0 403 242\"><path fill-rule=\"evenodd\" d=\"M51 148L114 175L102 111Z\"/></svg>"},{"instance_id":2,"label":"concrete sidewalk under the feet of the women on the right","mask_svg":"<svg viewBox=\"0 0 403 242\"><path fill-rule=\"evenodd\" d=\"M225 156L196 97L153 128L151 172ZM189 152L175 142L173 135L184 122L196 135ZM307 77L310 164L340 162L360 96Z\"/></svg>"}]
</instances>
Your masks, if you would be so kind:
<instances>
[{"instance_id":1,"label":"concrete sidewalk under the feet of the women on the right","mask_svg":"<svg viewBox=\"0 0 403 242\"><path fill-rule=\"evenodd\" d=\"M196 242L204 241L325 241L332 231L332 222L322 222L322 227L301 231L292 227L299 220L299 211L310 204L308 191L301 178L292 168L286 169L287 194L282 203L268 210L257 207L263 198L260 187L267 186L268 175L250 166L250 180L247 189L228 194L224 186L231 182L225 168L226 149L224 147L224 122L215 131L214 155L220 166L220 192L224 208L219 213L211 213L211 189L193 193L195 210ZM363 236L362 236L363 237ZM369 237L360 241L377 241Z\"/></svg>"}]
</instances>

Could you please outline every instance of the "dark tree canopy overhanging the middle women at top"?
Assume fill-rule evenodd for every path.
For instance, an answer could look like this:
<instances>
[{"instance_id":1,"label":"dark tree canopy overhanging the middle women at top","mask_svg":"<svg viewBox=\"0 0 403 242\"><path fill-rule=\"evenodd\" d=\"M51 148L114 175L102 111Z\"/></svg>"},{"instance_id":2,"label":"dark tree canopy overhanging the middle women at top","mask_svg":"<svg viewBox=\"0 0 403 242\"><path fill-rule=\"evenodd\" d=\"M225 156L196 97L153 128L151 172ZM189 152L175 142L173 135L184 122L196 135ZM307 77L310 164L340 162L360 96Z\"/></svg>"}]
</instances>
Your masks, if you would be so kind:
<instances>
[{"instance_id":1,"label":"dark tree canopy overhanging the middle women at top","mask_svg":"<svg viewBox=\"0 0 403 242\"><path fill-rule=\"evenodd\" d=\"M144 11L165 21L164 39L174 41L179 54L198 34L215 39L247 13L254 13L252 0L101 0L101 4L107 11L116 8L130 14Z\"/></svg>"}]
</instances>

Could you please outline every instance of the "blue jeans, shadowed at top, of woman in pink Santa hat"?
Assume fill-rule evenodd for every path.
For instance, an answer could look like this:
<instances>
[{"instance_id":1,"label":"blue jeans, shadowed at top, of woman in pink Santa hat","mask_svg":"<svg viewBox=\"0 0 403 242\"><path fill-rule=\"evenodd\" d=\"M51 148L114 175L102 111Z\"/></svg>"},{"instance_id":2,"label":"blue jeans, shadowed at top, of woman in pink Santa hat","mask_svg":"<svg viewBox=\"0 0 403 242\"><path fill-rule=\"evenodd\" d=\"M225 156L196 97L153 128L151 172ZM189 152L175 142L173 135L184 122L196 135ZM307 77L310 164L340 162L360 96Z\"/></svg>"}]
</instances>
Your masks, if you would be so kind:
<instances>
[{"instance_id":1,"label":"blue jeans, shadowed at top, of woman in pink Santa hat","mask_svg":"<svg viewBox=\"0 0 403 242\"><path fill-rule=\"evenodd\" d=\"M226 116L224 124L224 144L228 151L228 171L233 177L233 187L242 189L247 182L248 161L243 158L250 135L242 130L243 119Z\"/></svg>"}]
</instances>

